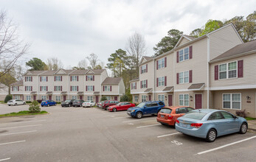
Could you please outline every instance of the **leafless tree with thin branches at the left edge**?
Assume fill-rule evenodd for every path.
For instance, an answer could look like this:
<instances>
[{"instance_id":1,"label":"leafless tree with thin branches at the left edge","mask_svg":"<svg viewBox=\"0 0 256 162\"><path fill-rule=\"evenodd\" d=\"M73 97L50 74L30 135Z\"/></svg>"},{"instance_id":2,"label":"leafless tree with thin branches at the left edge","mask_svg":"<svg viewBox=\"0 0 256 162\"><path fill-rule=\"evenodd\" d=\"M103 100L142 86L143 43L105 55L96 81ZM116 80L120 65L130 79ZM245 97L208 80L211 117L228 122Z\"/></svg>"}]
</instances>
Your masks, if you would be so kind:
<instances>
[{"instance_id":1,"label":"leafless tree with thin branches at the left edge","mask_svg":"<svg viewBox=\"0 0 256 162\"><path fill-rule=\"evenodd\" d=\"M17 65L17 60L27 53L30 45L18 38L18 25L0 11L0 77Z\"/></svg>"}]
</instances>

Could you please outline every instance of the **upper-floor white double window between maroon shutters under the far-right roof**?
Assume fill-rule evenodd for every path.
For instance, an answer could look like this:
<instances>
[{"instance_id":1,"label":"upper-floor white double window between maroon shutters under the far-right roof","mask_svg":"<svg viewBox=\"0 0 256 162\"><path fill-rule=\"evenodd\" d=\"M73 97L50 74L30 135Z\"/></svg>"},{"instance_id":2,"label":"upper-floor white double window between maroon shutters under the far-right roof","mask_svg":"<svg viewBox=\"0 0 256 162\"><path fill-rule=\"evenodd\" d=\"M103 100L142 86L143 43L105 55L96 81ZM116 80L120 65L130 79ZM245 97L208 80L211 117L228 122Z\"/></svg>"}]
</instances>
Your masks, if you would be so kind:
<instances>
[{"instance_id":1,"label":"upper-floor white double window between maroon shutters under the far-right roof","mask_svg":"<svg viewBox=\"0 0 256 162\"><path fill-rule=\"evenodd\" d=\"M219 79L235 78L238 72L238 62L224 63L219 65Z\"/></svg>"}]
</instances>

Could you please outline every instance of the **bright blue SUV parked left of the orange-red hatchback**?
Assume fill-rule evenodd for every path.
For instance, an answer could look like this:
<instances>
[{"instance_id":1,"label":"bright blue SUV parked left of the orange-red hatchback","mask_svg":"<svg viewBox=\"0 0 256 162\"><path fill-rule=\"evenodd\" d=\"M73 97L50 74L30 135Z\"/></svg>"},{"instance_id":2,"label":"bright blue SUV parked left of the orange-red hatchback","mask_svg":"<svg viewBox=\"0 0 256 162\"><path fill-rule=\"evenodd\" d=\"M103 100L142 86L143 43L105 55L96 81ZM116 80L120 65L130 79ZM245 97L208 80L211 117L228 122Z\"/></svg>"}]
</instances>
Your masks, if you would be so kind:
<instances>
[{"instance_id":1,"label":"bright blue SUV parked left of the orange-red hatchback","mask_svg":"<svg viewBox=\"0 0 256 162\"><path fill-rule=\"evenodd\" d=\"M134 108L128 108L127 114L141 119L142 116L157 114L162 107L165 107L162 101L142 102Z\"/></svg>"}]
</instances>

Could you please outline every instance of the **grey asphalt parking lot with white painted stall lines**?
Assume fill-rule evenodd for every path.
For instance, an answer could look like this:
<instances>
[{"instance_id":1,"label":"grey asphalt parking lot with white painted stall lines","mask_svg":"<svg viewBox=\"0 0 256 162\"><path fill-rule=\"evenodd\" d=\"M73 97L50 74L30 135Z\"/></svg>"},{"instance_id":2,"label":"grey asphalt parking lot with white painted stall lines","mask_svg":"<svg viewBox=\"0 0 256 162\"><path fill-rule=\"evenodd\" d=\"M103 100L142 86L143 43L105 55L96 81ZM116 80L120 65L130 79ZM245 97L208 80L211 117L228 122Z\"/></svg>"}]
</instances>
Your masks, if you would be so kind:
<instances>
[{"instance_id":1,"label":"grey asphalt parking lot with white painted stall lines","mask_svg":"<svg viewBox=\"0 0 256 162\"><path fill-rule=\"evenodd\" d=\"M26 110L0 106L0 113ZM256 134L213 143L126 111L42 108L49 114L0 119L0 161L255 161ZM8 113L10 113L8 112Z\"/></svg>"}]
</instances>

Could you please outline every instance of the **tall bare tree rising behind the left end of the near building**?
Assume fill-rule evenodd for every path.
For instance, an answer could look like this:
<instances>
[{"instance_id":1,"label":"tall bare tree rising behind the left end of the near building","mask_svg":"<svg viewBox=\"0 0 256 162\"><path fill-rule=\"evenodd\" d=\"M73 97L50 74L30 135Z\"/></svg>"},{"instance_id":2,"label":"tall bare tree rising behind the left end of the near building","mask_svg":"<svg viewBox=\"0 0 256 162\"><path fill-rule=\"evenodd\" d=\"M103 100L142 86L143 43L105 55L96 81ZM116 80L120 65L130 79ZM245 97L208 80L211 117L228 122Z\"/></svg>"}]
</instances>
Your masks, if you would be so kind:
<instances>
[{"instance_id":1,"label":"tall bare tree rising behind the left end of the near building","mask_svg":"<svg viewBox=\"0 0 256 162\"><path fill-rule=\"evenodd\" d=\"M145 38L137 32L134 32L128 38L125 49L131 58L132 68L136 70L136 77L139 77L139 59L146 52Z\"/></svg>"}]
</instances>

